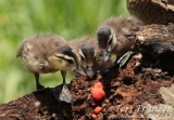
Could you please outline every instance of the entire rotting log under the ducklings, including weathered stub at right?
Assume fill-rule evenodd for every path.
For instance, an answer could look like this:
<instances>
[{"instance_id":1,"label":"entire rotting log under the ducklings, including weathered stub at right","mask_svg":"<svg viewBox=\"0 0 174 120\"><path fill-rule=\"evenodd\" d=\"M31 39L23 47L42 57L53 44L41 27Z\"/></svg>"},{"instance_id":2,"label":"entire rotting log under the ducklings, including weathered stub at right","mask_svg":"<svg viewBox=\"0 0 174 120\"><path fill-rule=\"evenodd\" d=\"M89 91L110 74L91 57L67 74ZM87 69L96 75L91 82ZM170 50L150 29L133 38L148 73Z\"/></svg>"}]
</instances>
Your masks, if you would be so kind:
<instances>
[{"instance_id":1,"label":"entire rotting log under the ducklings, including weathered stub at right","mask_svg":"<svg viewBox=\"0 0 174 120\"><path fill-rule=\"evenodd\" d=\"M0 105L0 119L115 120L129 117L128 120L146 120L151 116L142 110L144 106L162 104L173 109L174 105L166 102L170 99L166 97L174 93L169 92L167 95L166 92L159 92L161 86L170 88L174 83L173 38L173 24L145 26L136 34L135 46L139 54L133 55L125 66L113 66L109 72L97 74L91 80L83 77L72 80L71 104L58 103L47 89ZM91 96L96 82L104 86L105 96L101 101L95 101ZM99 114L94 111L97 106L102 108ZM159 117L161 115L157 114Z\"/></svg>"}]
</instances>

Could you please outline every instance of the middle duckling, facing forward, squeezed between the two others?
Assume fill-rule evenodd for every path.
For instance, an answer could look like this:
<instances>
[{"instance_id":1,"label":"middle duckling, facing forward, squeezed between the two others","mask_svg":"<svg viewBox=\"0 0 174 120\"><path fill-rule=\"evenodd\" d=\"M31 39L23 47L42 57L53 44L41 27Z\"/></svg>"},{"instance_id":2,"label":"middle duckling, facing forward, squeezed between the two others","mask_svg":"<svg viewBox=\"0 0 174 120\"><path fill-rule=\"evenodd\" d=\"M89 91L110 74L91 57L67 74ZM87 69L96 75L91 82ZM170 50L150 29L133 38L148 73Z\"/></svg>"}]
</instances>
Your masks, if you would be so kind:
<instances>
[{"instance_id":1,"label":"middle duckling, facing forward, squeezed between the two others","mask_svg":"<svg viewBox=\"0 0 174 120\"><path fill-rule=\"evenodd\" d=\"M85 36L69 41L69 44L73 48L74 53L77 54L82 67L90 79L92 79L97 70L105 69L113 65L111 58L107 64L102 64L101 51L95 38Z\"/></svg>"}]
</instances>

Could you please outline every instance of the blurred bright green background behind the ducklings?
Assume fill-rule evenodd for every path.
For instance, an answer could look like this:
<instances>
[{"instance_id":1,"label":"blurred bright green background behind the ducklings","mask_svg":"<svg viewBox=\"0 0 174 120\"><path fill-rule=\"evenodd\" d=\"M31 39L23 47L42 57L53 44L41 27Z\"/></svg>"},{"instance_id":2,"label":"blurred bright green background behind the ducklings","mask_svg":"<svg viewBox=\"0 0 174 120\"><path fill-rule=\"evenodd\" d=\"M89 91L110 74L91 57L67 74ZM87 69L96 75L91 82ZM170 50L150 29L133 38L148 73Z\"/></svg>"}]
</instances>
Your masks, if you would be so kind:
<instances>
[{"instance_id":1,"label":"blurred bright green background behind the ducklings","mask_svg":"<svg viewBox=\"0 0 174 120\"><path fill-rule=\"evenodd\" d=\"M41 32L66 40L95 36L97 26L110 16L128 15L126 0L1 0L0 1L0 104L35 90L33 74L15 54L20 43ZM67 75L67 82L73 78ZM60 72L41 75L40 83L62 83Z\"/></svg>"}]
</instances>

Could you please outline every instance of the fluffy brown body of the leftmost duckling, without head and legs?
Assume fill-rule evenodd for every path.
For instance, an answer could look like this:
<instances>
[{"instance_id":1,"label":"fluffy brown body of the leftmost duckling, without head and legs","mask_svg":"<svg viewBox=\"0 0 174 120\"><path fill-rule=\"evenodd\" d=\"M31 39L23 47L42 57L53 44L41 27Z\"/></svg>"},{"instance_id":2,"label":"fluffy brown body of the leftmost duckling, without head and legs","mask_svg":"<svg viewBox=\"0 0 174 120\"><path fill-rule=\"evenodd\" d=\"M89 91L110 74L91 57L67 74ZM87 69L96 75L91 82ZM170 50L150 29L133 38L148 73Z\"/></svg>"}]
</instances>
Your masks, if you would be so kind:
<instances>
[{"instance_id":1,"label":"fluffy brown body of the leftmost duckling, without head and legs","mask_svg":"<svg viewBox=\"0 0 174 120\"><path fill-rule=\"evenodd\" d=\"M66 44L65 40L57 35L38 35L29 37L20 45L16 56L21 56L24 66L29 71L52 72L48 57L50 51Z\"/></svg>"}]
</instances>

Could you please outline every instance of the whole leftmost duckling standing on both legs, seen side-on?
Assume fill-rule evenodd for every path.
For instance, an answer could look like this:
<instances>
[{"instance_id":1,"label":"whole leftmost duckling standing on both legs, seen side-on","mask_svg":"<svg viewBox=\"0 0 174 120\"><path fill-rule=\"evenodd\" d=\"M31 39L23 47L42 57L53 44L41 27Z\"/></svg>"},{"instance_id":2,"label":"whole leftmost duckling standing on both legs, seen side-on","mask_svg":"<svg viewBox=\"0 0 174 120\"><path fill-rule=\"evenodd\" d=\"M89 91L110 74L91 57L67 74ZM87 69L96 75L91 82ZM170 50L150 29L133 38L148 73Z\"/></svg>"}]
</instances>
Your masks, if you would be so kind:
<instances>
[{"instance_id":1,"label":"whole leftmost duckling standing on both legs, seen side-on","mask_svg":"<svg viewBox=\"0 0 174 120\"><path fill-rule=\"evenodd\" d=\"M85 76L72 48L57 35L38 35L25 39L18 48L16 57L21 57L26 69L34 74L36 91L45 88L39 83L39 74L61 70L63 88L59 98L67 103L71 102L71 95L65 84L66 71Z\"/></svg>"}]
</instances>

